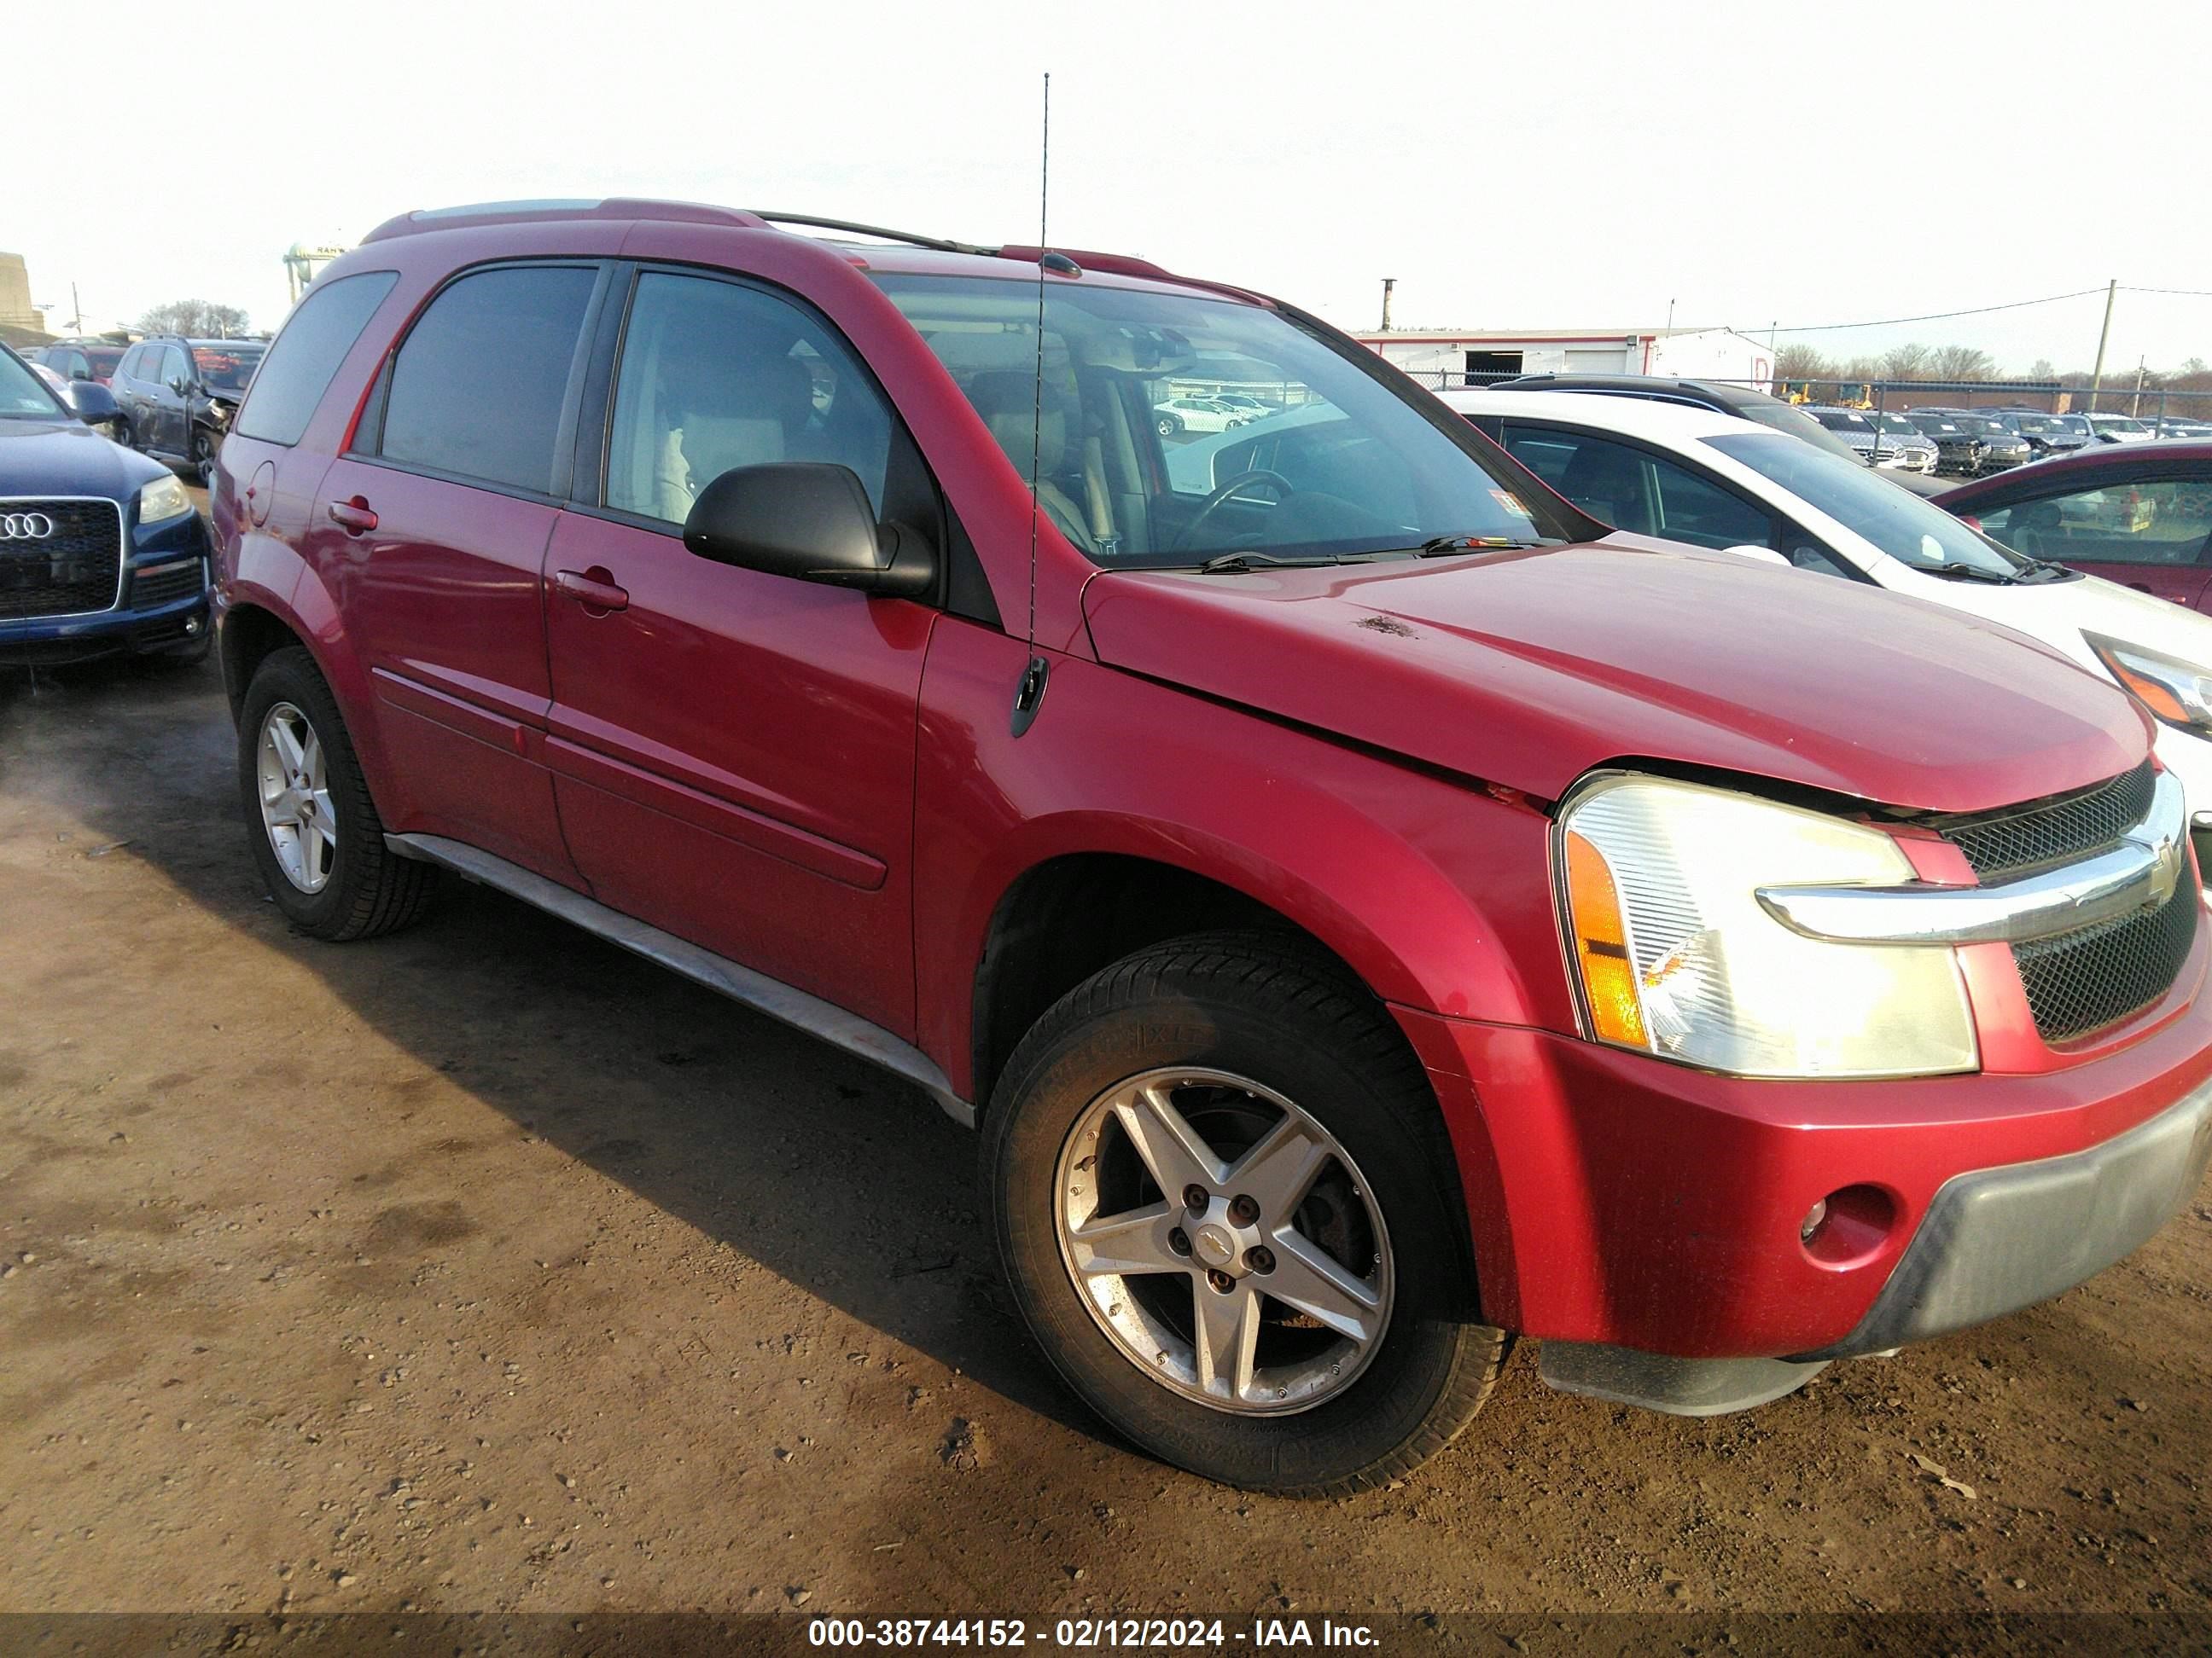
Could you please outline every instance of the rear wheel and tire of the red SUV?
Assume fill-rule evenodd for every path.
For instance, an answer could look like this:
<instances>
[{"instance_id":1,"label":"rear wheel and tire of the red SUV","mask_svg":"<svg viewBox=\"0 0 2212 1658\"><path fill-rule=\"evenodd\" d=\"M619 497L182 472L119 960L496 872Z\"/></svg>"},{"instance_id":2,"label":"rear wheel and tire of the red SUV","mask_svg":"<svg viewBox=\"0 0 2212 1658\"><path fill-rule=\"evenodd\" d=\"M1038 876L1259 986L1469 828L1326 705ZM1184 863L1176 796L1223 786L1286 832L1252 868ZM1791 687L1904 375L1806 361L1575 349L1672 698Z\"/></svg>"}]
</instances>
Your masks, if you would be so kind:
<instances>
[{"instance_id":1,"label":"rear wheel and tire of the red SUV","mask_svg":"<svg viewBox=\"0 0 2212 1658\"><path fill-rule=\"evenodd\" d=\"M312 842L312 849L294 858L288 869L285 853L279 851L283 833L263 816L263 763L276 758L263 754L263 736L272 716L294 741L294 752L305 747L314 756L314 780L321 785L307 798L301 789L281 787L288 798L281 811L292 811L294 847ZM305 727L312 743L301 745ZM301 796L299 805L290 798ZM361 776L361 760L354 758L352 738L338 716L338 703L323 683L323 674L299 646L270 652L246 685L246 701L239 712L239 805L246 811L246 833L252 844L254 864L268 882L276 909L301 933L343 942L376 937L416 922L429 909L438 889L434 864L398 858L385 847L385 825L376 816L369 785ZM330 833L310 829L327 822Z\"/></svg>"}]
</instances>

